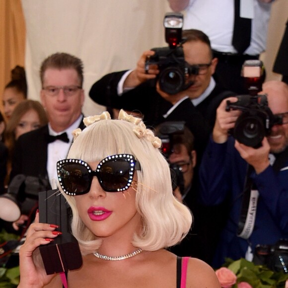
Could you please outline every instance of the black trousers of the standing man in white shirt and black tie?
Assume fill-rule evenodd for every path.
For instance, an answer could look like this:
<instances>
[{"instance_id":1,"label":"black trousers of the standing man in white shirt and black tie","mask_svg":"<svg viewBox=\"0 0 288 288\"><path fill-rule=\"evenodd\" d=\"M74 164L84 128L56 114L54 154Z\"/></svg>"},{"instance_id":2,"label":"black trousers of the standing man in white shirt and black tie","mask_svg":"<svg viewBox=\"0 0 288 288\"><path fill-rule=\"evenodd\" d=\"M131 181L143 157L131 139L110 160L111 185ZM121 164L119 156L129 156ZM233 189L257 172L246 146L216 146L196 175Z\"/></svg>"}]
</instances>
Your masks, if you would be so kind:
<instances>
[{"instance_id":1,"label":"black trousers of the standing man in white shirt and black tie","mask_svg":"<svg viewBox=\"0 0 288 288\"><path fill-rule=\"evenodd\" d=\"M218 58L218 64L214 73L216 82L220 83L227 90L236 94L247 94L248 89L245 84L245 78L241 76L242 65L246 60L258 60L259 55L236 55L213 51L214 57ZM261 83L264 82L265 72L261 77Z\"/></svg>"}]
</instances>

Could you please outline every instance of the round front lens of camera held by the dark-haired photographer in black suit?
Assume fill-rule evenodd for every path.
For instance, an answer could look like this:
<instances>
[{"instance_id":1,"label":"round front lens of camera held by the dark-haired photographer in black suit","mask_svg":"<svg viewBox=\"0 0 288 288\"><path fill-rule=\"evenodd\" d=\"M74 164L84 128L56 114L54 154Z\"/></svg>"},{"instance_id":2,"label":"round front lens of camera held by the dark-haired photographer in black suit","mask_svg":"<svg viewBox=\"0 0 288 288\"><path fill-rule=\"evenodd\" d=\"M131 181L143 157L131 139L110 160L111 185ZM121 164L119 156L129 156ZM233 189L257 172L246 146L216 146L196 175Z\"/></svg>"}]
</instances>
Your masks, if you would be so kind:
<instances>
[{"instance_id":1,"label":"round front lens of camera held by the dark-haired photographer in black suit","mask_svg":"<svg viewBox=\"0 0 288 288\"><path fill-rule=\"evenodd\" d=\"M159 74L160 89L168 94L176 94L184 84L183 72L177 67L167 67Z\"/></svg>"}]
</instances>

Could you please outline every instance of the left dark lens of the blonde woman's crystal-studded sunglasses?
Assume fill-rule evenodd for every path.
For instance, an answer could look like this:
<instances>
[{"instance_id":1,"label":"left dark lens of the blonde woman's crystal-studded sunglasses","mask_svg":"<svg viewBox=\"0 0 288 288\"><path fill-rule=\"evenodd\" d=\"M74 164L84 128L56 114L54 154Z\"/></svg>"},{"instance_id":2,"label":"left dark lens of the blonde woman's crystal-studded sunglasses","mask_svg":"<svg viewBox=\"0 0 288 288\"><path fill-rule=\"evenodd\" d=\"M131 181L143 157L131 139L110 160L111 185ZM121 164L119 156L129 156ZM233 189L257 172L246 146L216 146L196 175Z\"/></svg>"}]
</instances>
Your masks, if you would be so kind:
<instances>
[{"instance_id":1,"label":"left dark lens of the blonde woman's crystal-studded sunglasses","mask_svg":"<svg viewBox=\"0 0 288 288\"><path fill-rule=\"evenodd\" d=\"M80 164L67 164L60 169L64 188L69 193L86 193L89 188L89 173L86 167Z\"/></svg>"}]
</instances>

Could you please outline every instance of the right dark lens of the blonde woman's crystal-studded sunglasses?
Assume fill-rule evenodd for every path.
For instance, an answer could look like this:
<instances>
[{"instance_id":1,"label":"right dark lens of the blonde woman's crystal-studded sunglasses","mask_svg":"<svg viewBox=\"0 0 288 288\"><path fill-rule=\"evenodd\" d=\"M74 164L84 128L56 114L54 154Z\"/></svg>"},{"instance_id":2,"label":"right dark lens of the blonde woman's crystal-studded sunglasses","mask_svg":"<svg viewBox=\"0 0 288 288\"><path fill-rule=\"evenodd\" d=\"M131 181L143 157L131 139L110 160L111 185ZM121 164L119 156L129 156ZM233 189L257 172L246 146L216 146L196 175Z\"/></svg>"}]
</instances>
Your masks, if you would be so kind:
<instances>
[{"instance_id":1,"label":"right dark lens of the blonde woman's crystal-studded sunglasses","mask_svg":"<svg viewBox=\"0 0 288 288\"><path fill-rule=\"evenodd\" d=\"M100 183L106 191L123 189L130 176L130 164L128 161L117 159L105 162L99 172Z\"/></svg>"}]
</instances>

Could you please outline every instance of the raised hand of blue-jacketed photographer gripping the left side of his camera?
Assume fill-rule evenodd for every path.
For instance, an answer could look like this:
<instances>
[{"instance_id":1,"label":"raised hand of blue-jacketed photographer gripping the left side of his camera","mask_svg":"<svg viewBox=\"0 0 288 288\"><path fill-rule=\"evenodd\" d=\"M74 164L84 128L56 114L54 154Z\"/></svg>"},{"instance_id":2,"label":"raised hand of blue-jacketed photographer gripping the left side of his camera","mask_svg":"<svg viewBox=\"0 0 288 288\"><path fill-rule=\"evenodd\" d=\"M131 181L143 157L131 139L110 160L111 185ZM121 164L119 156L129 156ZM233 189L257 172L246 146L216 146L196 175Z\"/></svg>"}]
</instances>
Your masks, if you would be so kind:
<instances>
[{"instance_id":1,"label":"raised hand of blue-jacketed photographer gripping the left side of his camera","mask_svg":"<svg viewBox=\"0 0 288 288\"><path fill-rule=\"evenodd\" d=\"M220 103L216 110L216 122L213 129L213 140L218 144L225 143L228 139L229 130L234 128L235 122L241 112L239 110L226 111L226 101L237 102L236 97L229 97Z\"/></svg>"}]
</instances>

